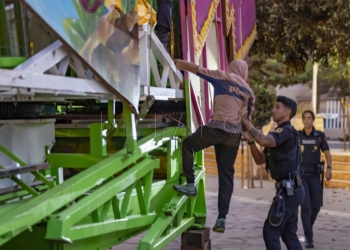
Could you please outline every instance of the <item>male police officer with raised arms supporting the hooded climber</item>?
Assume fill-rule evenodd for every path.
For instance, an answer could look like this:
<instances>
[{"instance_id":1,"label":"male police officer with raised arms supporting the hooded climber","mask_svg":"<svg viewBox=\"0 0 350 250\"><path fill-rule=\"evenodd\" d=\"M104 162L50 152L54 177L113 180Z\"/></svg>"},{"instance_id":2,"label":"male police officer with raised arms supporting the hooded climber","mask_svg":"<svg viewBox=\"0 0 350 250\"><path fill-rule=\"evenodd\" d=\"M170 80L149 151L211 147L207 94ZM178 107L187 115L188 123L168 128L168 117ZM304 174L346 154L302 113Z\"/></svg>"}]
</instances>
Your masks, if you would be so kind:
<instances>
[{"instance_id":1,"label":"male police officer with raised arms supporting the hooded climber","mask_svg":"<svg viewBox=\"0 0 350 250\"><path fill-rule=\"evenodd\" d=\"M248 140L254 161L259 165L266 163L270 176L276 180L275 197L283 201L283 213L278 217L280 221L275 223L271 220L273 206L265 220L263 237L266 249L281 249L280 238L288 249L302 249L296 232L298 207L303 202L305 193L299 173L301 153L298 133L290 122L296 110L297 104L294 100L278 96L272 110L273 121L278 126L268 135L261 133L247 120L247 111L244 108L240 113L242 123L248 130L244 137ZM264 150L260 151L255 142L265 147Z\"/></svg>"}]
</instances>

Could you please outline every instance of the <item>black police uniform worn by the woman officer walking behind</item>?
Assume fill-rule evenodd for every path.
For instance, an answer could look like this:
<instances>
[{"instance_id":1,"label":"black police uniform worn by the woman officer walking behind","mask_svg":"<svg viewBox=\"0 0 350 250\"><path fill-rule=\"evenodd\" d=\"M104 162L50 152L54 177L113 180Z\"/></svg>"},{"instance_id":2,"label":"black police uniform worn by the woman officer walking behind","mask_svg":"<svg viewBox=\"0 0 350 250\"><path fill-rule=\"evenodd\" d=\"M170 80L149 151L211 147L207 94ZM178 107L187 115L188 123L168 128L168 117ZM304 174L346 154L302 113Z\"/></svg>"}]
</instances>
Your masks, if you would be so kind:
<instances>
[{"instance_id":1,"label":"black police uniform worn by the woman officer walking behind","mask_svg":"<svg viewBox=\"0 0 350 250\"><path fill-rule=\"evenodd\" d=\"M307 241L312 242L312 226L315 223L317 214L321 209L322 186L320 181L320 169L318 164L321 159L321 150L329 150L325 134L318 130L312 130L307 135L304 130L298 131L301 144L303 172L303 186L305 189L305 200L301 204L301 221Z\"/></svg>"}]
</instances>

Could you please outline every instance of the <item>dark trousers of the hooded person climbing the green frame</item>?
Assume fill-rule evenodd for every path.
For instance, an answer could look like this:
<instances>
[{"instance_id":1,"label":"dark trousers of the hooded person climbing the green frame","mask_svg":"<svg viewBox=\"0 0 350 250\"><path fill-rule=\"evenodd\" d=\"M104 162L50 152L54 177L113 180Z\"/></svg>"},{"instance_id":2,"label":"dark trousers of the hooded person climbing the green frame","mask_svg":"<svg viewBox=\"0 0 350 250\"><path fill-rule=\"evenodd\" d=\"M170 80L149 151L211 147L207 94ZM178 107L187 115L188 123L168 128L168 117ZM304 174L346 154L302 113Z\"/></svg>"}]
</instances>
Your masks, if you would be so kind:
<instances>
[{"instance_id":1,"label":"dark trousers of the hooded person climbing the green frame","mask_svg":"<svg viewBox=\"0 0 350 250\"><path fill-rule=\"evenodd\" d=\"M187 183L194 183L193 153L210 146L215 147L219 176L219 218L226 218L233 192L233 175L241 137L221 129L201 126L182 143L182 164Z\"/></svg>"}]
</instances>

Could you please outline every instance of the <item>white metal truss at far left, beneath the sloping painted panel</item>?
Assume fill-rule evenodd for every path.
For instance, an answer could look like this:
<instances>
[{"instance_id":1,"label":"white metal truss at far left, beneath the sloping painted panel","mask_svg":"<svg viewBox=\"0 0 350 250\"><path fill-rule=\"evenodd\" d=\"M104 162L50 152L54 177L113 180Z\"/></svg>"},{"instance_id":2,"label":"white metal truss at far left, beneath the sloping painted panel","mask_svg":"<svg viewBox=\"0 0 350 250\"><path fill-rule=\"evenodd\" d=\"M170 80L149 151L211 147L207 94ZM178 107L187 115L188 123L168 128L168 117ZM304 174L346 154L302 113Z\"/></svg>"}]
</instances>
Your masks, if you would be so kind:
<instances>
[{"instance_id":1,"label":"white metal truss at far left, beneath the sloping painted panel","mask_svg":"<svg viewBox=\"0 0 350 250\"><path fill-rule=\"evenodd\" d=\"M67 77L68 66L76 77ZM0 101L64 101L73 98L115 99L65 46L56 41L13 70L0 69Z\"/></svg>"}]
</instances>

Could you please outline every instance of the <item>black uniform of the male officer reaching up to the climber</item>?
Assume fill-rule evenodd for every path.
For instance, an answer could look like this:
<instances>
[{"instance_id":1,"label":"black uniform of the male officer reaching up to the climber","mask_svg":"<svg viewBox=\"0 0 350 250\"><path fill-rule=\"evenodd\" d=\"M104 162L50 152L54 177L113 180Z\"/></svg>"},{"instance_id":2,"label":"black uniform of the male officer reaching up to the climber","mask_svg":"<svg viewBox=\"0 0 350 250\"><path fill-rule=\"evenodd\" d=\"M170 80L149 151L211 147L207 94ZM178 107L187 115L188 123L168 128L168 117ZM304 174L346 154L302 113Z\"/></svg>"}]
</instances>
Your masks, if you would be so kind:
<instances>
[{"instance_id":1,"label":"black uniform of the male officer reaching up to the climber","mask_svg":"<svg viewBox=\"0 0 350 250\"><path fill-rule=\"evenodd\" d=\"M273 226L267 217L263 236L266 249L281 249L280 238L288 249L303 249L298 236L298 207L304 200L304 188L299 175L300 146L298 133L290 121L282 123L270 132L276 142L275 148L265 148L266 168L270 176L276 180L277 193L282 195L285 202L285 215L280 225ZM299 181L297 181L297 179ZM283 180L292 180L292 195L287 194L282 187Z\"/></svg>"}]
</instances>

